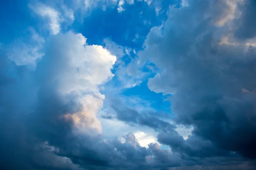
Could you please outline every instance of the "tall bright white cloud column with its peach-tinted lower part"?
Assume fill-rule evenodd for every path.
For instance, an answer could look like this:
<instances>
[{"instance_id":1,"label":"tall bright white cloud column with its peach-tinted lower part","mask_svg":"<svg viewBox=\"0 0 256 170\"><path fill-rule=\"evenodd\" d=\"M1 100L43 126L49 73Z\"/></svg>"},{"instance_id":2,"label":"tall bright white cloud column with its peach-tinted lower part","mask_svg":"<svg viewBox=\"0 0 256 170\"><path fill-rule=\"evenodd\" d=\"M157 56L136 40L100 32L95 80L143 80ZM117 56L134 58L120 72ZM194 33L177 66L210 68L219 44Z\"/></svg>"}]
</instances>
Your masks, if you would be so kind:
<instances>
[{"instance_id":1,"label":"tall bright white cloud column with its peach-tinted lower part","mask_svg":"<svg viewBox=\"0 0 256 170\"><path fill-rule=\"evenodd\" d=\"M97 113L105 96L99 93L98 85L113 77L116 57L100 45L87 45L82 34L73 32L51 37L45 49L37 68L41 83L54 86L64 100L75 97L80 110L64 117L73 120L79 129L76 132L101 133Z\"/></svg>"}]
</instances>

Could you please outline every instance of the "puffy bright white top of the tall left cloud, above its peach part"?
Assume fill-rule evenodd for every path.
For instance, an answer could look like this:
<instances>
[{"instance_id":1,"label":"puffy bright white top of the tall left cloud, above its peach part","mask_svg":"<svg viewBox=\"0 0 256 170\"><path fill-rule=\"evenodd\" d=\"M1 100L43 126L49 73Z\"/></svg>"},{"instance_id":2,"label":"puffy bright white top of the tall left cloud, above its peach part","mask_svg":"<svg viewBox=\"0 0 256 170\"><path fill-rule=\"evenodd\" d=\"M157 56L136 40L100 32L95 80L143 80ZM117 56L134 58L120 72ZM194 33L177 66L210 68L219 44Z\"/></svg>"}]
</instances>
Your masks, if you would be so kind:
<instances>
[{"instance_id":1,"label":"puffy bright white top of the tall left cloud, above its peach part","mask_svg":"<svg viewBox=\"0 0 256 170\"><path fill-rule=\"evenodd\" d=\"M68 32L55 37L54 42L52 45L57 49L60 48L58 49L58 54L62 55L60 60L70 62L65 63L69 72L58 73L63 82L69 82L63 83L59 88L60 91L68 93L78 89L85 91L88 85L96 87L113 77L111 68L116 57L100 45L86 45L86 38L82 34Z\"/></svg>"}]
</instances>

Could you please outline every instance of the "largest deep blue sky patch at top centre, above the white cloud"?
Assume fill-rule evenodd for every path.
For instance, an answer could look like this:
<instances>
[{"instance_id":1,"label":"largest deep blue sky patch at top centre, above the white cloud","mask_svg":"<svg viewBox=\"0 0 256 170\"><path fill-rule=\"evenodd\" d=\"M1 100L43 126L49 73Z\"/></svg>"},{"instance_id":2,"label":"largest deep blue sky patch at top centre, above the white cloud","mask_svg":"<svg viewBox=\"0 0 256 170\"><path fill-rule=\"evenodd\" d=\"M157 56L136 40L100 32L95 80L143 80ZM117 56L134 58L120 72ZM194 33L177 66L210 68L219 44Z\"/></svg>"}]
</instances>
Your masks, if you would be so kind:
<instances>
[{"instance_id":1,"label":"largest deep blue sky patch at top centre, above the white cloud","mask_svg":"<svg viewBox=\"0 0 256 170\"><path fill-rule=\"evenodd\" d=\"M101 44L103 39L111 38L119 45L141 49L152 26L160 26L166 20L166 11L171 3L161 3L162 9L158 16L155 6L150 5L148 8L148 4L143 1L125 4L125 10L120 13L113 6L105 10L98 7L91 12L90 17L84 17L82 25L78 20L75 21L73 28L88 38L88 44Z\"/></svg>"}]
</instances>

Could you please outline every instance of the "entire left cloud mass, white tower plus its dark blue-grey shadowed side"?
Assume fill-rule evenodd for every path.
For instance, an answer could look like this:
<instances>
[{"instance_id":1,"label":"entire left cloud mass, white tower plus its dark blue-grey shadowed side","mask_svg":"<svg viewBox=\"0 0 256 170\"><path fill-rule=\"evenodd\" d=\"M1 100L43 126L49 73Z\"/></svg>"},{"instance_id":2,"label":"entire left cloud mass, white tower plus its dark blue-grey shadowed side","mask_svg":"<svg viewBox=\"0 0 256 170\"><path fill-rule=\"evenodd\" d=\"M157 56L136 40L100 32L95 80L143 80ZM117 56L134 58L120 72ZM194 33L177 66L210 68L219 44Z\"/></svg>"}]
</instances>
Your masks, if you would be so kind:
<instances>
[{"instance_id":1,"label":"entire left cloud mass, white tower plus its dark blue-grey shadowed side","mask_svg":"<svg viewBox=\"0 0 256 170\"><path fill-rule=\"evenodd\" d=\"M1 167L31 169L44 161L55 167L57 162L44 156L52 155L61 164L63 156L69 158L66 154L71 152L64 147L72 147L68 142L75 135L101 132L96 113L104 95L97 86L113 77L111 68L116 60L102 46L86 45L81 34L68 32L49 38L35 70L16 65L4 53L1 60L1 128L7 130L0 134L1 150L7 152ZM40 144L45 141L58 151L45 151Z\"/></svg>"}]
</instances>

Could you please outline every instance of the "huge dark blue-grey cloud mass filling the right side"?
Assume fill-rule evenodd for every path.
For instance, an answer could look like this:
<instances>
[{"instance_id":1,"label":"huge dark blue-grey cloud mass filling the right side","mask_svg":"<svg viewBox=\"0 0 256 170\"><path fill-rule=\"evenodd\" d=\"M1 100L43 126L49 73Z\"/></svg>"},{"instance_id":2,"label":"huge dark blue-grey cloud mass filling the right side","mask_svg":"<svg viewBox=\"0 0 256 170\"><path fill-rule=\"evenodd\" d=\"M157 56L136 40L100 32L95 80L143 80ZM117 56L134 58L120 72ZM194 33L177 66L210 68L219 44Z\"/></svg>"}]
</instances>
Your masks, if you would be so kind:
<instances>
[{"instance_id":1,"label":"huge dark blue-grey cloud mass filling the right side","mask_svg":"<svg viewBox=\"0 0 256 170\"><path fill-rule=\"evenodd\" d=\"M191 157L255 159L256 98L242 92L256 85L255 39L246 24L253 1L186 2L170 8L163 27L151 28L139 52L141 61L161 70L148 88L172 95L176 123L194 127L186 140L163 132L158 142Z\"/></svg>"}]
</instances>

